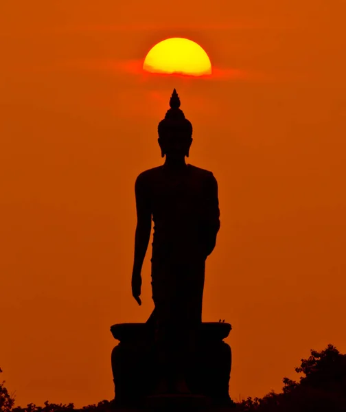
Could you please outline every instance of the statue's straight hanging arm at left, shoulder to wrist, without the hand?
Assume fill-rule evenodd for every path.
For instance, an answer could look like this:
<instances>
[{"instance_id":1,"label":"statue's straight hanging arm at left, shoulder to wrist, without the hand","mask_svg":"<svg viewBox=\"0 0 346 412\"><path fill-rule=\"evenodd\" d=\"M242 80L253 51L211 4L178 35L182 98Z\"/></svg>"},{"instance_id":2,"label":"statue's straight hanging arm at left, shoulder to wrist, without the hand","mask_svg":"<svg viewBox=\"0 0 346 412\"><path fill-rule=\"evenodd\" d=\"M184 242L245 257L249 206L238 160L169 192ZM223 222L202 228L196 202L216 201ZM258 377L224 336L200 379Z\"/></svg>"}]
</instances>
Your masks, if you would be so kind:
<instances>
[{"instance_id":1,"label":"statue's straight hanging arm at left, shoulder to wrist, without the hand","mask_svg":"<svg viewBox=\"0 0 346 412\"><path fill-rule=\"evenodd\" d=\"M145 175L139 174L135 183L137 227L135 233L135 258L132 276L140 276L150 240L152 211L150 192Z\"/></svg>"}]
</instances>

